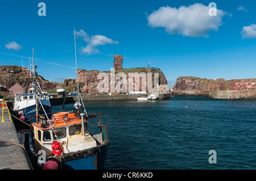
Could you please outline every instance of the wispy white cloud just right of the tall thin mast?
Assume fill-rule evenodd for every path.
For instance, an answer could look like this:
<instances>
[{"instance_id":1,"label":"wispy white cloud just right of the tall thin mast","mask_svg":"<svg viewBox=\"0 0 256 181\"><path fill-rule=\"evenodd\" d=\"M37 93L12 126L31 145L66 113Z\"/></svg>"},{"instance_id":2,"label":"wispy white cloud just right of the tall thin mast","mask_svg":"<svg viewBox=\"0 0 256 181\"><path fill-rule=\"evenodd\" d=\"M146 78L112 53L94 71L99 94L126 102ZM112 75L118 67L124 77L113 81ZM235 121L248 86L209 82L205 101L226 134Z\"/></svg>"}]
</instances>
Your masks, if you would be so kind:
<instances>
[{"instance_id":1,"label":"wispy white cloud just right of the tall thin mast","mask_svg":"<svg viewBox=\"0 0 256 181\"><path fill-rule=\"evenodd\" d=\"M88 43L86 47L81 47L81 52L87 55L100 53L96 48L98 45L118 44L118 41L114 41L103 35L93 35L89 37L84 30L76 31L76 35L77 37L82 37L82 39Z\"/></svg>"}]
</instances>

